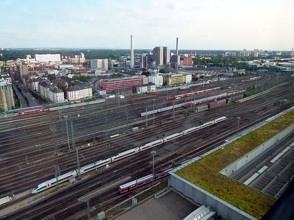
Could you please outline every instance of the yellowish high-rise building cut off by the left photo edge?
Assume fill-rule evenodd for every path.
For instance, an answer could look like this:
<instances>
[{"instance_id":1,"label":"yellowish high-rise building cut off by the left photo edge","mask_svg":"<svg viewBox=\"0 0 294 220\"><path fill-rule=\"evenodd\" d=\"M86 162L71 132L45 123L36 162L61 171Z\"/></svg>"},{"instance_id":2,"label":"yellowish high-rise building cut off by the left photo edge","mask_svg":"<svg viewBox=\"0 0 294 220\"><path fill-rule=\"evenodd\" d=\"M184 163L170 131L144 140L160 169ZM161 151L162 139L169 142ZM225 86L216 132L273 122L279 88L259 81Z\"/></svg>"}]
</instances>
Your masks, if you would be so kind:
<instances>
[{"instance_id":1,"label":"yellowish high-rise building cut off by the left photo edge","mask_svg":"<svg viewBox=\"0 0 294 220\"><path fill-rule=\"evenodd\" d=\"M14 109L14 99L11 83L0 79L0 110L8 111Z\"/></svg>"}]
</instances>

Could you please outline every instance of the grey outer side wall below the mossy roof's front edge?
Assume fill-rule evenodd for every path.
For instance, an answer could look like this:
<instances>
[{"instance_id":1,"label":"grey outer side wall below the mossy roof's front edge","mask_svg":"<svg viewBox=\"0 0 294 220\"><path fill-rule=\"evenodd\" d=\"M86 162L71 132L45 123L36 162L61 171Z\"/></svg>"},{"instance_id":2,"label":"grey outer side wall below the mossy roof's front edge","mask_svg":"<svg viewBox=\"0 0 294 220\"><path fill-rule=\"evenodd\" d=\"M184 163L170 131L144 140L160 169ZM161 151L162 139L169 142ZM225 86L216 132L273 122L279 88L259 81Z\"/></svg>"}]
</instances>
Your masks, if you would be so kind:
<instances>
[{"instance_id":1,"label":"grey outer side wall below the mossy roof's front edge","mask_svg":"<svg viewBox=\"0 0 294 220\"><path fill-rule=\"evenodd\" d=\"M206 207L210 206L210 209L223 219L257 220L174 173L171 174L171 186L173 189L183 193L186 197L192 198L195 202Z\"/></svg>"}]
</instances>

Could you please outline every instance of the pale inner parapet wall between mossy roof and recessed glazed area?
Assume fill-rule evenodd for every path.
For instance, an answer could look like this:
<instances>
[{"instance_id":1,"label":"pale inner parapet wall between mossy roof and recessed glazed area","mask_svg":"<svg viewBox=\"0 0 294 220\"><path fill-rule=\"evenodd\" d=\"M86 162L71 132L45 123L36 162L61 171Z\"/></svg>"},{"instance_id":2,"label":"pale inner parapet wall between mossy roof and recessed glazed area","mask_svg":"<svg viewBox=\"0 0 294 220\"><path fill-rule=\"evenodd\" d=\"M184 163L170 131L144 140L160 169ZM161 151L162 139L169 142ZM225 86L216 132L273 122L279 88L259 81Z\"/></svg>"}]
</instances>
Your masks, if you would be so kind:
<instances>
[{"instance_id":1,"label":"pale inner parapet wall between mossy roof and recessed glazed area","mask_svg":"<svg viewBox=\"0 0 294 220\"><path fill-rule=\"evenodd\" d=\"M236 173L236 171L245 167L247 163L249 162L251 163L261 154L264 154L267 151L269 151L272 147L278 144L279 141L281 141L284 137L287 137L293 131L294 131L294 124L290 125L288 128L284 129L283 131L277 133L276 135L271 137L269 140L262 143L257 148L253 149L252 151L250 151L248 154L245 154L244 156L242 156L235 162L231 163L229 166L221 170L220 173L225 176L232 176L234 172Z\"/></svg>"}]
</instances>

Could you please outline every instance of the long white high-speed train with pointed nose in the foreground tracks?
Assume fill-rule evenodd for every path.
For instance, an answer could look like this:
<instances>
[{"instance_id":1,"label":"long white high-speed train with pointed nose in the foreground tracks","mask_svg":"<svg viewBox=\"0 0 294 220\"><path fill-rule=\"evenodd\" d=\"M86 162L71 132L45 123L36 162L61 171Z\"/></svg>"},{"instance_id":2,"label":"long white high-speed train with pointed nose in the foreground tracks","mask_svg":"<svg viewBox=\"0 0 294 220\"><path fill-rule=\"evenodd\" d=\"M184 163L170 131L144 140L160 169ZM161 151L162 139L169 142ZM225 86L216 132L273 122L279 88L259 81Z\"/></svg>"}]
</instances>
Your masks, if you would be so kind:
<instances>
[{"instance_id":1,"label":"long white high-speed train with pointed nose in the foreground tracks","mask_svg":"<svg viewBox=\"0 0 294 220\"><path fill-rule=\"evenodd\" d=\"M152 141L152 142L149 142L147 144L144 144L140 147L136 147L136 148L133 148L131 150L128 150L128 151L125 151L125 152L122 152L120 154L116 154L112 157L109 157L109 158L106 158L106 159L102 159L102 160L98 160L97 162L94 162L94 163L91 163L91 164L88 164L84 167L81 167L80 168L80 174L84 174L84 173L87 173L89 171L92 171L92 170L95 170L95 169L98 169L99 167L102 167L104 165L107 165L107 164L110 164L112 162L115 162L117 160L120 160L120 159L123 159L127 156L131 156L133 154L137 154L141 151L145 151L149 148L152 148L152 147L155 147L157 145L160 145L162 143L165 143L165 142L168 142L170 140L173 140L175 138L178 138L180 136L183 136L183 135L186 135L186 134L189 134L191 132L196 132L200 129L203 129L203 128L206 128L208 126L211 126L213 124L216 124L216 123L219 123L221 121L224 121L226 119L226 117L220 117L220 118L217 118L217 119L214 119L212 121L209 121L209 122L206 122L200 126L196 126L196 127L193 127L193 128L190 128L190 129L187 129L187 130L184 130L183 132L178 132L178 133L174 133L172 135L169 135L167 137L164 137L164 138L160 138L158 140L155 140L155 141ZM78 170L73 170L69 173L66 173L66 174L63 174L61 176L58 176L58 181L59 183L62 183L64 181L67 181L68 179L72 178L72 177L75 177L78 175ZM43 182L41 184L39 184L33 191L32 193L39 193L43 190L46 190L52 186L55 186L56 185L56 178L53 178L53 179L50 179L46 182Z\"/></svg>"}]
</instances>

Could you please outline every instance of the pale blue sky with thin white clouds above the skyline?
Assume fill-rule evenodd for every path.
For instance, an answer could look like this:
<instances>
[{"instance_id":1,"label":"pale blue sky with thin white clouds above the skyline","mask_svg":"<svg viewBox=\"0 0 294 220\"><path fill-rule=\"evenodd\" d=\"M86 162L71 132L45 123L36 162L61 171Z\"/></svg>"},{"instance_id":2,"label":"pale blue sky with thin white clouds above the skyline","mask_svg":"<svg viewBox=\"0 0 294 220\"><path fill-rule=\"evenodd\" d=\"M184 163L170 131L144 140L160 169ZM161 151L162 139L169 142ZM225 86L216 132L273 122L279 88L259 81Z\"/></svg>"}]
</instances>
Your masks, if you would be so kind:
<instances>
[{"instance_id":1,"label":"pale blue sky with thin white clouds above the skyline","mask_svg":"<svg viewBox=\"0 0 294 220\"><path fill-rule=\"evenodd\" d=\"M291 50L294 0L0 0L0 47Z\"/></svg>"}]
</instances>

